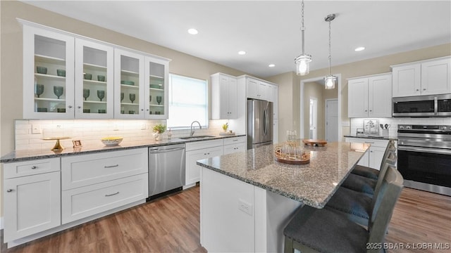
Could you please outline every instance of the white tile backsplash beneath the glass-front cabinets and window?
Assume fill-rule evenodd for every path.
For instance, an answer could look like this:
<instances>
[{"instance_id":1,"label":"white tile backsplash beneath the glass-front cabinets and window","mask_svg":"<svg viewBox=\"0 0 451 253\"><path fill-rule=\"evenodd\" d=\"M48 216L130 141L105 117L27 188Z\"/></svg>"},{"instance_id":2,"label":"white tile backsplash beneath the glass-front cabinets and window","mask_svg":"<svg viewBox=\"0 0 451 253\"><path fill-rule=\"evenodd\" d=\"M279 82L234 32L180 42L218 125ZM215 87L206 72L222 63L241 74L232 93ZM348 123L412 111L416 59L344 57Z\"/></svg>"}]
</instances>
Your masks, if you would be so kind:
<instances>
[{"instance_id":1,"label":"white tile backsplash beneath the glass-front cabinets and window","mask_svg":"<svg viewBox=\"0 0 451 253\"><path fill-rule=\"evenodd\" d=\"M198 129L196 134L217 135L221 125L226 120L210 120L208 129ZM80 140L82 145L99 145L100 139L106 136L121 136L130 141L152 138L155 124L166 124L166 120L121 120L121 119L69 119L69 120L31 120L16 119L15 149L33 150L50 149L55 141L45 141L42 138L55 136L69 136L70 139L61 140L65 147L72 147L73 140ZM188 136L190 129L173 130L173 137ZM167 131L163 134L167 138Z\"/></svg>"}]
</instances>

